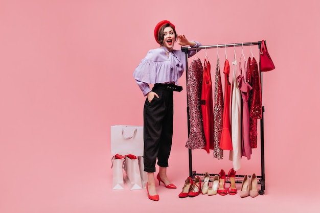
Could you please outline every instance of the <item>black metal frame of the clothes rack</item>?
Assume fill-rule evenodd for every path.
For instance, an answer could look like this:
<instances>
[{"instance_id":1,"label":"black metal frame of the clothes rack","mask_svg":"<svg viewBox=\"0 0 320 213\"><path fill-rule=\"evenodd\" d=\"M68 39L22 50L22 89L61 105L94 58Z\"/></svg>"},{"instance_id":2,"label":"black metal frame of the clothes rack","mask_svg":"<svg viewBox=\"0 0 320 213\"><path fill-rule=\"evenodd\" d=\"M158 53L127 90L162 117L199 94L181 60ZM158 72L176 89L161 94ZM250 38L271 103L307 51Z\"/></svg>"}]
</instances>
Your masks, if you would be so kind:
<instances>
[{"instance_id":1,"label":"black metal frame of the clothes rack","mask_svg":"<svg viewBox=\"0 0 320 213\"><path fill-rule=\"evenodd\" d=\"M204 46L198 46L197 48L192 48L191 46L181 46L181 51L185 52L186 55L186 76L188 79L188 52L189 50L201 50L201 49L211 49L211 48L222 48L222 47L235 47L235 46L249 46L249 45L258 45L259 47L259 53L261 49L261 42L245 42L245 43L229 43L229 44L217 44L217 45L204 45ZM261 99L263 99L262 96L262 73L260 70L260 54L259 54L259 72L260 72L260 82L261 82ZM261 100L262 101L262 100ZM262 118L260 120L260 142L261 142L261 176L257 176L259 178L258 184L261 185L261 189L259 191L260 195L264 194L265 190L265 172L264 172L264 126L263 126L263 113L264 113L264 106L263 102L262 104ZM189 114L189 105L188 105L188 97L187 97L187 116L188 116L188 135L190 134L190 114ZM192 150L189 149L189 176L195 177L196 175L203 176L204 174L197 173L196 171L193 171L192 169ZM215 175L215 174L210 174ZM244 175L236 175L236 183L242 183Z\"/></svg>"}]
</instances>

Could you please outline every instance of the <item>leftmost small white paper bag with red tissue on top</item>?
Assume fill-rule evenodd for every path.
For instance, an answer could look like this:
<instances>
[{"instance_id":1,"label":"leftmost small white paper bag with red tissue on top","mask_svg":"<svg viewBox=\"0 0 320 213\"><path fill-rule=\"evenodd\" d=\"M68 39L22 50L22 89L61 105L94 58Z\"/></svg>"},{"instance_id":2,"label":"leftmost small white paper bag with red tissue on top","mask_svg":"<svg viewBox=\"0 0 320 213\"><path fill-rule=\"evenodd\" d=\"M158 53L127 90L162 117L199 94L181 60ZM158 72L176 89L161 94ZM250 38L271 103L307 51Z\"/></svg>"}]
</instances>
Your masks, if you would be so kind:
<instances>
[{"instance_id":1,"label":"leftmost small white paper bag with red tissue on top","mask_svg":"<svg viewBox=\"0 0 320 213\"><path fill-rule=\"evenodd\" d=\"M118 157L120 156L120 157ZM123 190L124 181L123 181L123 168L124 168L124 156L115 155L112 157L112 190Z\"/></svg>"}]
</instances>

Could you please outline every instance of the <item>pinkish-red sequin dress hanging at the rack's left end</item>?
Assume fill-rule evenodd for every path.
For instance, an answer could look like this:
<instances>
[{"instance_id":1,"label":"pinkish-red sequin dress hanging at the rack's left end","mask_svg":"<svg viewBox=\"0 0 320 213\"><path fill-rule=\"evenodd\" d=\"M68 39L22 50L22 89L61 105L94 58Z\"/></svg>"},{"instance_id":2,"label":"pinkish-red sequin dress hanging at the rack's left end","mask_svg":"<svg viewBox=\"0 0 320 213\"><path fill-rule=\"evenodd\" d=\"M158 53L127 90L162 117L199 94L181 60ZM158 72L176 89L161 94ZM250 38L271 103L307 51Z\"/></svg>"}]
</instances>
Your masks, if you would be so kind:
<instances>
[{"instance_id":1,"label":"pinkish-red sequin dress hanging at the rack's left end","mask_svg":"<svg viewBox=\"0 0 320 213\"><path fill-rule=\"evenodd\" d=\"M200 59L190 63L187 80L187 97L190 115L190 133L186 147L188 149L203 149L205 138L201 113L201 88L203 67Z\"/></svg>"}]
</instances>

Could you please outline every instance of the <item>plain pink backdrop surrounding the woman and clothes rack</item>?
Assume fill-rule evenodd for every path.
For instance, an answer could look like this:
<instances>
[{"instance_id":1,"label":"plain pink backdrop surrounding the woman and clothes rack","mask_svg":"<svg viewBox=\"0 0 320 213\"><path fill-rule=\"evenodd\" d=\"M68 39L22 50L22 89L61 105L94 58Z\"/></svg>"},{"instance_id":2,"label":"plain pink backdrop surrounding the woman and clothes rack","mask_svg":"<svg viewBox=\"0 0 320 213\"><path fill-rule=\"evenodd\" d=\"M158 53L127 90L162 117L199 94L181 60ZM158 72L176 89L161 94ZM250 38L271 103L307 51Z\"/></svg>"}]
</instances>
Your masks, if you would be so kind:
<instances>
[{"instance_id":1,"label":"plain pink backdrop surrounding the woman and clothes rack","mask_svg":"<svg viewBox=\"0 0 320 213\"><path fill-rule=\"evenodd\" d=\"M318 212L319 8L316 0L1 1L0 212ZM110 126L143 124L145 98L132 73L158 47L153 29L163 19L203 45L266 39L276 69L263 75L264 196L178 199L189 174L185 76L174 94L168 169L178 189L158 187L157 203L145 190L111 190ZM208 50L212 73L216 51ZM259 153L258 145L238 174L260 175ZM197 172L232 167L204 154L194 152Z\"/></svg>"}]
</instances>

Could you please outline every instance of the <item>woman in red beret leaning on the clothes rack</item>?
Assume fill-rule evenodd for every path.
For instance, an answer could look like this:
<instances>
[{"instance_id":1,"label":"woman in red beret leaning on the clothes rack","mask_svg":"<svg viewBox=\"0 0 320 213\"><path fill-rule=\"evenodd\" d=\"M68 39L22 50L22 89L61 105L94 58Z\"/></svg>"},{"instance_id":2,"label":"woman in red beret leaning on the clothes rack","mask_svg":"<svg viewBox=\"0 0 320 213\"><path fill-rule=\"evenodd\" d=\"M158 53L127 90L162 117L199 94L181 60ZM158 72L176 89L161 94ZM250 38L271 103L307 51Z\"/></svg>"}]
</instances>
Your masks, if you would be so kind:
<instances>
[{"instance_id":1,"label":"woman in red beret leaning on the clothes rack","mask_svg":"<svg viewBox=\"0 0 320 213\"><path fill-rule=\"evenodd\" d=\"M154 29L154 37L160 48L150 50L134 70L133 77L139 85L146 101L144 105L144 171L148 173L148 198L158 201L154 172L159 165L157 180L167 188L176 188L167 177L168 159L172 145L173 91L181 91L177 81L185 70L185 53L173 50L174 42L192 47L200 46L189 41L185 35L177 35L175 26L167 20L160 21ZM188 57L196 51L189 51ZM154 84L152 90L149 84Z\"/></svg>"}]
</instances>

